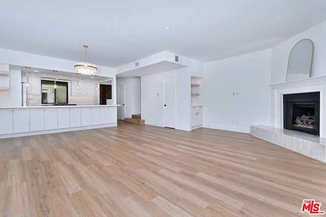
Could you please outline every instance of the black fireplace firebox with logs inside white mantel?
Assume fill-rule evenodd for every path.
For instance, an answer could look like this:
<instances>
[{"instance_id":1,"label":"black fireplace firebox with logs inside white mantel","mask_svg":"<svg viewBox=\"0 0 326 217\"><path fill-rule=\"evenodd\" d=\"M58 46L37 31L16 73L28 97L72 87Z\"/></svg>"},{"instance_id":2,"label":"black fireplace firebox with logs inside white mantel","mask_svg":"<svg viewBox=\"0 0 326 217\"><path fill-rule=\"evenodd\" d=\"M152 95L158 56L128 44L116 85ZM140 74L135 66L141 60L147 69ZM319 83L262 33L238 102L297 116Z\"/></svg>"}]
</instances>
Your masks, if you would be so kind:
<instances>
[{"instance_id":1,"label":"black fireplace firebox with logs inside white mantel","mask_svg":"<svg viewBox=\"0 0 326 217\"><path fill-rule=\"evenodd\" d=\"M319 136L320 92L283 95L284 129Z\"/></svg>"}]
</instances>

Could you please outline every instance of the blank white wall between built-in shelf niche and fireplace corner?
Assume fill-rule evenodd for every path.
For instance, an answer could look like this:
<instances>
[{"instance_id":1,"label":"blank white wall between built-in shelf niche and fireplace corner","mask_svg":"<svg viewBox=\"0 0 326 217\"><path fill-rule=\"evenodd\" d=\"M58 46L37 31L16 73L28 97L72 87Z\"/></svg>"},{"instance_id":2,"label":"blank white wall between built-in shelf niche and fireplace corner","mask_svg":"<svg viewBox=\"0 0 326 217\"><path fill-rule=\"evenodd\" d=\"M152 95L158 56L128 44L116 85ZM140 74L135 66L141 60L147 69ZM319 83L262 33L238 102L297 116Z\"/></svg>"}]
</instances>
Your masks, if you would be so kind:
<instances>
[{"instance_id":1,"label":"blank white wall between built-in shelf niche and fireplace corner","mask_svg":"<svg viewBox=\"0 0 326 217\"><path fill-rule=\"evenodd\" d=\"M249 133L251 125L270 126L270 73L270 49L204 64L204 127Z\"/></svg>"}]
</instances>

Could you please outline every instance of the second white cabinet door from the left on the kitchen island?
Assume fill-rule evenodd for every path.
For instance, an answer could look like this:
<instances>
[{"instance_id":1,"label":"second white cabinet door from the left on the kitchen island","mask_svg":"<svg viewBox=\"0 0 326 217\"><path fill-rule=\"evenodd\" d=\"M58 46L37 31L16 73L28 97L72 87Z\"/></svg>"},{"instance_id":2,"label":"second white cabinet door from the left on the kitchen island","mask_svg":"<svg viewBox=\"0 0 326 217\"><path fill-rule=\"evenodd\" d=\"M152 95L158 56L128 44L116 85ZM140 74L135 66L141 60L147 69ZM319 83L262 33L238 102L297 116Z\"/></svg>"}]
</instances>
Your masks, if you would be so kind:
<instances>
[{"instance_id":1,"label":"second white cabinet door from the left on the kitchen island","mask_svg":"<svg viewBox=\"0 0 326 217\"><path fill-rule=\"evenodd\" d=\"M14 125L14 133L30 132L30 109L14 108L13 125Z\"/></svg>"}]
</instances>

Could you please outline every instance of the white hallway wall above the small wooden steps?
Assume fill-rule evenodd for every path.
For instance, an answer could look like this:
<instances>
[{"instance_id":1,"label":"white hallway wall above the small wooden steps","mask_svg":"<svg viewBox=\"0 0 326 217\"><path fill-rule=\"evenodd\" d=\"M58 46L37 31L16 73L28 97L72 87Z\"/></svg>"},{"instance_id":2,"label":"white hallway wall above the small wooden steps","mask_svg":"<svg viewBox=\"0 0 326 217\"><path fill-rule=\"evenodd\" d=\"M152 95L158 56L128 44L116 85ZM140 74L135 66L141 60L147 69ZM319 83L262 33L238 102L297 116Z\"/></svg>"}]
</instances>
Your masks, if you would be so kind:
<instances>
[{"instance_id":1,"label":"white hallway wall above the small wooden steps","mask_svg":"<svg viewBox=\"0 0 326 217\"><path fill-rule=\"evenodd\" d=\"M140 114L141 78L117 78L117 89L120 85L125 85L125 117L131 117L132 114Z\"/></svg>"}]
</instances>

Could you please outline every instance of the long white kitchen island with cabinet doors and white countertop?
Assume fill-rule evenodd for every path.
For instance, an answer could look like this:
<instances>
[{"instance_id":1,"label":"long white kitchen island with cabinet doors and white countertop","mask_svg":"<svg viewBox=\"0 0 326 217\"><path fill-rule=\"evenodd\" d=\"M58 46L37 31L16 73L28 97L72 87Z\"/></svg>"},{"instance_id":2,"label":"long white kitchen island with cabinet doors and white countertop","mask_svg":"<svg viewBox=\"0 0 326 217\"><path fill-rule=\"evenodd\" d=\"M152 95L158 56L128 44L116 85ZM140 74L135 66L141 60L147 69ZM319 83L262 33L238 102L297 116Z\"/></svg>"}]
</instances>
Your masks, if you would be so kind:
<instances>
[{"instance_id":1,"label":"long white kitchen island with cabinet doors and white countertop","mask_svg":"<svg viewBox=\"0 0 326 217\"><path fill-rule=\"evenodd\" d=\"M0 107L0 139L117 126L120 105Z\"/></svg>"}]
</instances>

